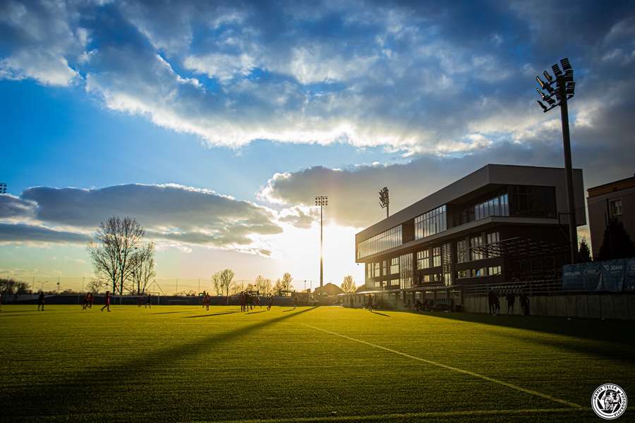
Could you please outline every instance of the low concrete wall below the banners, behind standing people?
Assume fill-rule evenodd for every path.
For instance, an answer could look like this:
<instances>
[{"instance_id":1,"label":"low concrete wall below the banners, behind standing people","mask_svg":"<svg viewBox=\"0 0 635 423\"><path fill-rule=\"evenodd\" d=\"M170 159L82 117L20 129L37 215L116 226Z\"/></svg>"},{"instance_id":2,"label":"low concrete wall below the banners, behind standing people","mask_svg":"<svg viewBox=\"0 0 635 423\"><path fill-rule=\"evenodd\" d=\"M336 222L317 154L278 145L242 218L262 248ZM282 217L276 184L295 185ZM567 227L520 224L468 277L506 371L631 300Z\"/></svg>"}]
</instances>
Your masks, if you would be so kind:
<instances>
[{"instance_id":1,"label":"low concrete wall below the banners, behind standing people","mask_svg":"<svg viewBox=\"0 0 635 423\"><path fill-rule=\"evenodd\" d=\"M485 296L465 298L464 305L466 312L489 312ZM529 311L532 316L635 320L635 295L537 295L529 298ZM500 301L500 312L507 314L507 301L504 298ZM512 314L521 314L518 298Z\"/></svg>"}]
</instances>

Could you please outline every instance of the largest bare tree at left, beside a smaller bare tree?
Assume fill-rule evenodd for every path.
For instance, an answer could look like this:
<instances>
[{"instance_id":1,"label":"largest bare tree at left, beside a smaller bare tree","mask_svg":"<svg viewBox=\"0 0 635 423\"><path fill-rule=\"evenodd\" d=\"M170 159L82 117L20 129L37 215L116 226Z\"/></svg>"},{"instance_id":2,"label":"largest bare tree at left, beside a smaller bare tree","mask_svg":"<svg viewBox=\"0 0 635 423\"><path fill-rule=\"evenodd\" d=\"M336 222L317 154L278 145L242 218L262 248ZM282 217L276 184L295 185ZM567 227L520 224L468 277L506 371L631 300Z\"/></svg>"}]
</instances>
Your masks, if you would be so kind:
<instances>
[{"instance_id":1,"label":"largest bare tree at left, beside a smaller bare tree","mask_svg":"<svg viewBox=\"0 0 635 423\"><path fill-rule=\"evenodd\" d=\"M112 283L114 293L119 290L123 295L123 284L131 278L134 269L131 257L140 247L144 235L145 231L135 219L114 216L99 224L95 240L88 244L95 273Z\"/></svg>"}]
</instances>

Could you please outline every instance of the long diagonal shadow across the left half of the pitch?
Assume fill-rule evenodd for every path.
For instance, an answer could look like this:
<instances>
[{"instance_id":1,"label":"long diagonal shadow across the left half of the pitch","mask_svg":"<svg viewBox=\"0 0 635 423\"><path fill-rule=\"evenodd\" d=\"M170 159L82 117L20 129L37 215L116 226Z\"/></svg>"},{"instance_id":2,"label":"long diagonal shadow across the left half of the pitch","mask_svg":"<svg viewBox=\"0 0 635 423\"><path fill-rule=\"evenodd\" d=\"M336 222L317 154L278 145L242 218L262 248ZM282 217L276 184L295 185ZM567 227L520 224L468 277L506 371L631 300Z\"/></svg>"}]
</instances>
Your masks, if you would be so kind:
<instances>
[{"instance_id":1,"label":"long diagonal shadow across the left half of the pitch","mask_svg":"<svg viewBox=\"0 0 635 423\"><path fill-rule=\"evenodd\" d=\"M11 386L11 390L4 389L6 395L3 395L2 415L21 419L45 416L49 419L66 420L68 416L85 415L87 410L104 408L108 409L111 416L118 413L123 413L123 416L126 412L140 412L143 415L143 412L151 411L138 406L148 401L148 375L163 373L169 367L178 367L179 362L195 360L195 357L209 353L216 345L248 336L254 331L292 319L315 308L317 307L301 309L293 314L259 321L234 331L215 333L174 347L152 350L141 357L126 359L122 355L116 364L87 367L50 380L41 379L46 380L42 384ZM202 360L207 358L203 357ZM179 412L178 409L170 408L164 408L163 411ZM177 416L171 417L176 419ZM167 415L162 415L162 418L171 420Z\"/></svg>"}]
</instances>

